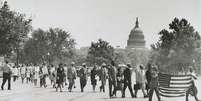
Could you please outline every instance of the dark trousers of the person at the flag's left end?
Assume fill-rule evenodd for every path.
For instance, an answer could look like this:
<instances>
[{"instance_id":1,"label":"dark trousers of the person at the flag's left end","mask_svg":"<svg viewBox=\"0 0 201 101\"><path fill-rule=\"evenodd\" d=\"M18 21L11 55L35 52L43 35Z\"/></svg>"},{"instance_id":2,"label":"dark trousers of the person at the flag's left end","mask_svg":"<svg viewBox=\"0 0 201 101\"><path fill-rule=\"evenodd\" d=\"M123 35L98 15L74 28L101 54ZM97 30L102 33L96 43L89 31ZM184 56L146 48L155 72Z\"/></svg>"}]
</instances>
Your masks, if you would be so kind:
<instances>
[{"instance_id":1,"label":"dark trousers of the person at the flag's left end","mask_svg":"<svg viewBox=\"0 0 201 101\"><path fill-rule=\"evenodd\" d=\"M153 88L150 88L149 90L149 101L152 101L152 97L153 97L153 93L154 91L156 92L156 96L158 98L158 101L161 101L161 98L160 98L160 95L159 95L159 90L158 90L158 87L153 87Z\"/></svg>"}]
</instances>

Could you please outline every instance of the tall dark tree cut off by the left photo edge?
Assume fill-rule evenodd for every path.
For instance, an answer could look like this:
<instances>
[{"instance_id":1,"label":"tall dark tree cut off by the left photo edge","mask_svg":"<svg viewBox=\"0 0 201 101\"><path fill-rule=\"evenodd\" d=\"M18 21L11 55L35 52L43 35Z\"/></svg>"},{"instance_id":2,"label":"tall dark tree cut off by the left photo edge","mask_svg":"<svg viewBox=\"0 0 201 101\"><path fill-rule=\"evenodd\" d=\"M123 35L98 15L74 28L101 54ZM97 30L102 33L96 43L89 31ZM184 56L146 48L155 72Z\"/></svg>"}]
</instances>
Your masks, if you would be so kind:
<instances>
[{"instance_id":1,"label":"tall dark tree cut off by the left photo edge","mask_svg":"<svg viewBox=\"0 0 201 101\"><path fill-rule=\"evenodd\" d=\"M11 11L5 1L0 8L0 55L17 55L31 30L31 19L24 14Z\"/></svg>"}]
</instances>

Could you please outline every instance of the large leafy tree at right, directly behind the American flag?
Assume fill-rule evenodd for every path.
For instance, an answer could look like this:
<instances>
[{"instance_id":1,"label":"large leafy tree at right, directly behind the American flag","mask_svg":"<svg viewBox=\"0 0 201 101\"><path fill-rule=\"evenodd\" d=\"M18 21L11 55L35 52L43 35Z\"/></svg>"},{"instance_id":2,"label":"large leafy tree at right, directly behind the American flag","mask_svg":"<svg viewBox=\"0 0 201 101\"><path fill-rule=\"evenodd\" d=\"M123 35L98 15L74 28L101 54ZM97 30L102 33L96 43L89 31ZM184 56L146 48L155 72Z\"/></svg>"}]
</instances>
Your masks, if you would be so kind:
<instances>
[{"instance_id":1,"label":"large leafy tree at right, directly behind the American flag","mask_svg":"<svg viewBox=\"0 0 201 101\"><path fill-rule=\"evenodd\" d=\"M186 19L175 18L169 29L159 32L160 39L151 46L151 60L171 72L193 64L196 49L200 48L200 35Z\"/></svg>"}]
</instances>

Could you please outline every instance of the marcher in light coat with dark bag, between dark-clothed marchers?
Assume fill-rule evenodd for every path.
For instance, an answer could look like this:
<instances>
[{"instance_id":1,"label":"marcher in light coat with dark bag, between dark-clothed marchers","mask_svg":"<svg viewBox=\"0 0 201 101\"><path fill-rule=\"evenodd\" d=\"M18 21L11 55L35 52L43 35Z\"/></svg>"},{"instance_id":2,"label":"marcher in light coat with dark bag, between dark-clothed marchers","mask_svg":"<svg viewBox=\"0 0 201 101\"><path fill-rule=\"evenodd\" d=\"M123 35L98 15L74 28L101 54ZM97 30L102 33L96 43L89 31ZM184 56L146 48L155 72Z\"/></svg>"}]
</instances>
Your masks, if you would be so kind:
<instances>
[{"instance_id":1,"label":"marcher in light coat with dark bag, between dark-clothed marchers","mask_svg":"<svg viewBox=\"0 0 201 101\"><path fill-rule=\"evenodd\" d=\"M144 95L144 98L148 97L145 89L146 89L146 76L145 76L145 70L144 66L140 65L139 68L135 70L136 73L136 85L134 85L134 90L135 90L135 96L137 97L137 92L139 89L142 89L142 93Z\"/></svg>"}]
</instances>

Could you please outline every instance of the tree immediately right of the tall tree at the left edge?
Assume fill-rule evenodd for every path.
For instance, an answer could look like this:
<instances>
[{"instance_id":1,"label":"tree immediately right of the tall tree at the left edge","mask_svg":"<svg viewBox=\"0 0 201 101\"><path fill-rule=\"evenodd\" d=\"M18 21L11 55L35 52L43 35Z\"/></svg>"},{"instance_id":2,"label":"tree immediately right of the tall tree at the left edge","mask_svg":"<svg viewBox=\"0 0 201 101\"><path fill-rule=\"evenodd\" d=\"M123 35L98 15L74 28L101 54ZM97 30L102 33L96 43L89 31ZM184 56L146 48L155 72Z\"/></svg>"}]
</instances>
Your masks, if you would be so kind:
<instances>
[{"instance_id":1,"label":"tree immediately right of the tall tree at the left edge","mask_svg":"<svg viewBox=\"0 0 201 101\"><path fill-rule=\"evenodd\" d=\"M47 32L37 29L25 43L24 57L26 63L42 63L48 53Z\"/></svg>"}]
</instances>

